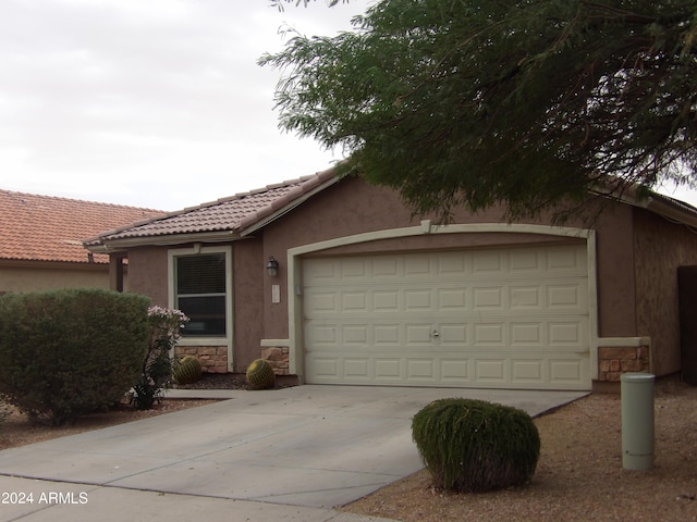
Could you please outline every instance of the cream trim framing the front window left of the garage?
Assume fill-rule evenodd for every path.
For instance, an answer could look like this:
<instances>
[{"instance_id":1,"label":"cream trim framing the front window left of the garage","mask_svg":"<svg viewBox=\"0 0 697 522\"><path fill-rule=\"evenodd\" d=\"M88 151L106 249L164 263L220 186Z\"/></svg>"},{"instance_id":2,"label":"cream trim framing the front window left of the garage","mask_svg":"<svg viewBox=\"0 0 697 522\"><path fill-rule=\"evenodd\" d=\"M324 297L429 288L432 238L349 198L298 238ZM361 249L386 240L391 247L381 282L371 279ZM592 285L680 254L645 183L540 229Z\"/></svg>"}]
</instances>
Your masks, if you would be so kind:
<instances>
[{"instance_id":1,"label":"cream trim framing the front window left of the garage","mask_svg":"<svg viewBox=\"0 0 697 522\"><path fill-rule=\"evenodd\" d=\"M183 256L198 256L207 253L223 253L225 256L225 336L221 337L182 337L179 339L179 346L227 346L228 347L228 371L233 368L233 349L232 339L233 331L233 308L234 295L232 293L232 246L215 246L204 247L196 244L188 248L172 248L168 250L167 263L167 281L168 281L168 301L169 307L175 307L175 289L176 289L176 258Z\"/></svg>"}]
</instances>

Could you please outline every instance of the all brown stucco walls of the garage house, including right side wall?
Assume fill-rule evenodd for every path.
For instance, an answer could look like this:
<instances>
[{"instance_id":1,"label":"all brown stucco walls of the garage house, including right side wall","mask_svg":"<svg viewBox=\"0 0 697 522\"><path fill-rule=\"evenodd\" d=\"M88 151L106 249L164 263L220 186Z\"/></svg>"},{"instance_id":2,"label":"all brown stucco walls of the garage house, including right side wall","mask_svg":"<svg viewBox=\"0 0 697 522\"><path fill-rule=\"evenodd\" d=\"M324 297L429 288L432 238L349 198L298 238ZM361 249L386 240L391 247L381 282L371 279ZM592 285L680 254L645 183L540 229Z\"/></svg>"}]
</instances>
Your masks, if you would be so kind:
<instances>
[{"instance_id":1,"label":"all brown stucco walls of the garage house, including right side wall","mask_svg":"<svg viewBox=\"0 0 697 522\"><path fill-rule=\"evenodd\" d=\"M270 343L290 335L289 299L293 299L288 295L290 248L416 226L419 221L411 215L395 191L348 178L322 190L252 237L232 243L234 371L244 372L260 356L262 339ZM453 217L453 223L500 221L501 212L497 209L476 215L462 212ZM530 223L548 222L541 217ZM695 236L650 212L617 203L608 203L596 221L571 219L564 225L595 231L599 337L616 340L648 336L652 371L659 375L676 371L680 343L675 270L680 264L697 264ZM573 240L584 239L512 233L435 234L344 246L313 256ZM168 304L168 247L140 247L129 252L129 289L162 306ZM280 262L279 275L273 278L265 270L270 256ZM274 285L281 293L277 303L271 301Z\"/></svg>"}]
</instances>

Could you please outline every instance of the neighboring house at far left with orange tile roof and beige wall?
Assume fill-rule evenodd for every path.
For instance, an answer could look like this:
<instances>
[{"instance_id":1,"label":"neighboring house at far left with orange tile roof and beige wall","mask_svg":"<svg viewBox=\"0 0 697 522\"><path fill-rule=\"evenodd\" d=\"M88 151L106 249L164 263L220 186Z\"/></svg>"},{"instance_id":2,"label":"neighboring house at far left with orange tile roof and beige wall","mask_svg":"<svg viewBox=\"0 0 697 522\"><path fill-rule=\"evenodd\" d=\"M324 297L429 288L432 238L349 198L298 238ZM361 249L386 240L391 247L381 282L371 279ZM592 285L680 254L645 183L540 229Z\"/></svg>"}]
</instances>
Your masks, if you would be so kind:
<instances>
[{"instance_id":1,"label":"neighboring house at far left with orange tile roof and beige wall","mask_svg":"<svg viewBox=\"0 0 697 522\"><path fill-rule=\"evenodd\" d=\"M110 288L109 257L83 239L162 211L0 189L0 294Z\"/></svg>"}]
</instances>

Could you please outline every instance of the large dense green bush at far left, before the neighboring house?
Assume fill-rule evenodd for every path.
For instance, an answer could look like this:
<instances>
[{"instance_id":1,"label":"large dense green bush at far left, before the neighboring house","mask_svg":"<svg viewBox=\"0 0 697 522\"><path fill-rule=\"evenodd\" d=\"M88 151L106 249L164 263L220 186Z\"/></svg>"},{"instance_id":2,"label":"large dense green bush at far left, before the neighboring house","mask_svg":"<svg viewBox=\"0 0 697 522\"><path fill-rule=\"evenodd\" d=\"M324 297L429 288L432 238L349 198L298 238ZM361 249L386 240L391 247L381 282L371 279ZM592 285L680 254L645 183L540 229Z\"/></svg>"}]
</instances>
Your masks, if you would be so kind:
<instances>
[{"instance_id":1,"label":"large dense green bush at far left, before the neighboring house","mask_svg":"<svg viewBox=\"0 0 697 522\"><path fill-rule=\"evenodd\" d=\"M60 425L109 407L140 374L148 299L101 289L0 297L0 396Z\"/></svg>"}]
</instances>

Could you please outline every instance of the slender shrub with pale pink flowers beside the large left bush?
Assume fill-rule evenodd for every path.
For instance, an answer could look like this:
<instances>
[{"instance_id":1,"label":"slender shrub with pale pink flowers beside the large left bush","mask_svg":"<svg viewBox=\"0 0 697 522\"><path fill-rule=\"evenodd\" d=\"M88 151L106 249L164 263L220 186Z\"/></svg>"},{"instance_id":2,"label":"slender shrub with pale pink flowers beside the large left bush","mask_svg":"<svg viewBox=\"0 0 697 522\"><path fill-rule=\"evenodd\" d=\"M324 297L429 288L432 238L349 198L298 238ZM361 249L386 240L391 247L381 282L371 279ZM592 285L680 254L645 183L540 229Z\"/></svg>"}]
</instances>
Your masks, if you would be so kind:
<instances>
[{"instance_id":1,"label":"slender shrub with pale pink flowers beside the large left bush","mask_svg":"<svg viewBox=\"0 0 697 522\"><path fill-rule=\"evenodd\" d=\"M188 318L171 308L148 308L150 338L143 360L143 373L133 386L131 402L138 410L149 410L162 398L162 389L170 386L172 377L172 349L181 337L181 330Z\"/></svg>"}]
</instances>

